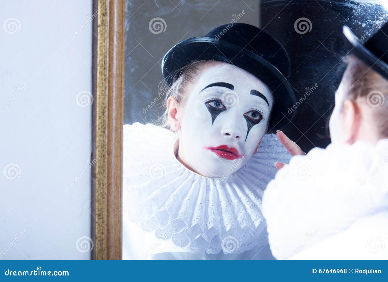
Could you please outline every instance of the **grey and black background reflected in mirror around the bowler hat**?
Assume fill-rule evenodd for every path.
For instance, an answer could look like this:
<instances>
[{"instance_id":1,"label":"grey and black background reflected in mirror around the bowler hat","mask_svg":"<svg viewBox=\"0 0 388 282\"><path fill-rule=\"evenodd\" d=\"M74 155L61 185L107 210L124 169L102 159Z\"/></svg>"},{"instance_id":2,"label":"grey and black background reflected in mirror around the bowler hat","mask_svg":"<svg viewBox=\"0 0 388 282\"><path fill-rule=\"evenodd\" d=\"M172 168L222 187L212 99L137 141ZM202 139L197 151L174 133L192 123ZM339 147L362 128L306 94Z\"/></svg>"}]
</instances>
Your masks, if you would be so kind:
<instances>
[{"instance_id":1,"label":"grey and black background reflected in mirror around the bowler hat","mask_svg":"<svg viewBox=\"0 0 388 282\"><path fill-rule=\"evenodd\" d=\"M297 101L305 99L296 105L296 117L283 131L306 152L315 146L324 148L330 143L328 122L334 92L345 68L342 26L348 25L361 40L367 40L388 21L378 2L127 0L124 122L145 124L162 114L166 88L161 87L161 60L171 47L204 36L240 14L238 23L268 31L290 56L289 82Z\"/></svg>"}]
</instances>

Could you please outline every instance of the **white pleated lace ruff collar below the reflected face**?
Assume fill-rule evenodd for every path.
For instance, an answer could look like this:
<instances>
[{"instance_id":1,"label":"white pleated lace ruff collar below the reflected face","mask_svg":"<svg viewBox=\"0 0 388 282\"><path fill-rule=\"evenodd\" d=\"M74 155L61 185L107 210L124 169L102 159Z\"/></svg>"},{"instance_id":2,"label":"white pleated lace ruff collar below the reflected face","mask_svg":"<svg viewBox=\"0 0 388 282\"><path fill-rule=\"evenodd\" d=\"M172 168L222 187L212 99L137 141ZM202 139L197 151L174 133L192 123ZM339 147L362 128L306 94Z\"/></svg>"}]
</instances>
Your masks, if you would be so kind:
<instances>
[{"instance_id":1,"label":"white pleated lace ruff collar below the reflected face","mask_svg":"<svg viewBox=\"0 0 388 282\"><path fill-rule=\"evenodd\" d=\"M267 244L262 195L274 178L274 162L290 156L274 134L237 172L206 178L173 153L178 136L155 125L124 125L123 183L130 221L192 252L239 253ZM126 207L128 208L128 207Z\"/></svg>"}]
</instances>

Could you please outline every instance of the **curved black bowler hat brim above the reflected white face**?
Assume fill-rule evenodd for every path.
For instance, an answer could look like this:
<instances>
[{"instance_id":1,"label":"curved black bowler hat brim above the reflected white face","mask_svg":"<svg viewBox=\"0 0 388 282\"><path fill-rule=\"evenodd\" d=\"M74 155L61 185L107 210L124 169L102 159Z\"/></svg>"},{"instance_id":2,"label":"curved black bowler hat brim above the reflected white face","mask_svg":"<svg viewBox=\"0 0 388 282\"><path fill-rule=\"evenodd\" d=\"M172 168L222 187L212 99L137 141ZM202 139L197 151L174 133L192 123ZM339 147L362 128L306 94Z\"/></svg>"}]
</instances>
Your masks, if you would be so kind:
<instances>
[{"instance_id":1,"label":"curved black bowler hat brim above the reflected white face","mask_svg":"<svg viewBox=\"0 0 388 282\"><path fill-rule=\"evenodd\" d=\"M176 72L194 61L215 60L233 64L255 75L272 91L274 107L268 132L275 132L291 122L296 113L295 95L282 73L263 57L237 45L210 37L194 37L171 48L162 61L162 73L168 84Z\"/></svg>"}]
</instances>

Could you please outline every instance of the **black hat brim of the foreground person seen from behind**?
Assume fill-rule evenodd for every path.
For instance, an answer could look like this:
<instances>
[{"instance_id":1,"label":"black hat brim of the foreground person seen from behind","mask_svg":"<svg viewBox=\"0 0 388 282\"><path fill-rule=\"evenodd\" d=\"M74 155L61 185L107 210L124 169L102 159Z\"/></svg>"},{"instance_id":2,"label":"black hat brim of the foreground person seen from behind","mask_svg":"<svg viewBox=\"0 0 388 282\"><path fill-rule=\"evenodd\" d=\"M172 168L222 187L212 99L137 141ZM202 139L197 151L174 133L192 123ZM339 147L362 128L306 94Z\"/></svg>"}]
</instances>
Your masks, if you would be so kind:
<instances>
[{"instance_id":1,"label":"black hat brim of the foreground person seen from behind","mask_svg":"<svg viewBox=\"0 0 388 282\"><path fill-rule=\"evenodd\" d=\"M386 64L383 60L379 59L379 57L365 48L362 41L355 36L355 34L348 26L344 26L342 31L345 45L348 48L349 53L354 54L373 70L377 71L380 75L388 79L388 64Z\"/></svg>"}]
</instances>

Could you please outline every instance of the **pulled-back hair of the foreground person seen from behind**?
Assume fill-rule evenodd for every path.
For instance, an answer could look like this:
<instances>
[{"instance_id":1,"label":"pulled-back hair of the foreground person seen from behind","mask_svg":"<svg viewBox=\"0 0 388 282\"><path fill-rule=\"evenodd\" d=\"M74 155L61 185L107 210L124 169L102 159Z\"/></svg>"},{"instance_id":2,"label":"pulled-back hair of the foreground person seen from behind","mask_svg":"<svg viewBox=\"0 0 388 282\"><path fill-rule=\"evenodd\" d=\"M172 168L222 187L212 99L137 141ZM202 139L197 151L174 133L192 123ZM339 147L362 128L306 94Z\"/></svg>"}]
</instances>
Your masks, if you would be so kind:
<instances>
[{"instance_id":1,"label":"pulled-back hair of the foreground person seen from behind","mask_svg":"<svg viewBox=\"0 0 388 282\"><path fill-rule=\"evenodd\" d=\"M342 79L348 90L344 101L365 99L380 130L379 137L388 137L388 101L385 102L388 100L388 80L353 55L346 57L346 63L348 66Z\"/></svg>"}]
</instances>

